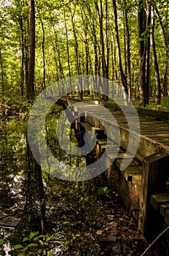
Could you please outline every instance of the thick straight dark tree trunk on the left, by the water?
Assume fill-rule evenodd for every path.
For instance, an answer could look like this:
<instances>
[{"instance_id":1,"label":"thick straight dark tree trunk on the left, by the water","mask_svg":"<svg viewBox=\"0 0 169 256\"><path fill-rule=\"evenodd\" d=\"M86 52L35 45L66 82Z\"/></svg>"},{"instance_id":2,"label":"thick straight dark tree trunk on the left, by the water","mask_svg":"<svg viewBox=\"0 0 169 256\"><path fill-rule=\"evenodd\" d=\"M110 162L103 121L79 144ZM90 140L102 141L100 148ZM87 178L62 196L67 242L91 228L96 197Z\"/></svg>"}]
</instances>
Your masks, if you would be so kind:
<instances>
[{"instance_id":1,"label":"thick straight dark tree trunk on the left, by the water","mask_svg":"<svg viewBox=\"0 0 169 256\"><path fill-rule=\"evenodd\" d=\"M28 99L35 96L34 90L34 69L35 69L35 3L29 0L29 63L28 63Z\"/></svg>"}]
</instances>

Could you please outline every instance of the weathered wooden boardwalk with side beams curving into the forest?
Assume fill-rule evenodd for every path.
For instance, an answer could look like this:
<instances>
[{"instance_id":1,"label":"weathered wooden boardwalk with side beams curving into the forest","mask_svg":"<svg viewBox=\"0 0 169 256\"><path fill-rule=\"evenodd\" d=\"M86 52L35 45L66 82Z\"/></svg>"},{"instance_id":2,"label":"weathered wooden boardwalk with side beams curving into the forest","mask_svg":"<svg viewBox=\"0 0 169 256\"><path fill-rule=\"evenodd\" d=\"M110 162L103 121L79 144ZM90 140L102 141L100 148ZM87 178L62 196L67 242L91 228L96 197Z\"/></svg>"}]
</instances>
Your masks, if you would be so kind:
<instances>
[{"instance_id":1,"label":"weathered wooden boardwalk with side beams curving into the forest","mask_svg":"<svg viewBox=\"0 0 169 256\"><path fill-rule=\"evenodd\" d=\"M167 190L169 185L169 113L138 108L139 137L137 132L130 131L127 118L118 105L99 102L89 102L89 104L78 102L77 104L77 101L72 99L68 100L68 105L74 105L76 118L80 113L84 113L85 118L79 118L81 123L85 121L88 127L103 129L104 134L112 141L117 141L120 130L120 146L127 149L127 152L130 153L131 150L133 153L132 146L128 148L129 140L132 141L133 147L138 146L135 157L141 162L141 165L135 164L135 159L133 159L126 170L122 171L125 180L131 181L138 191L138 228L149 236L149 233L155 234L155 231L160 230L164 220L169 225L169 194ZM106 109L109 110L109 113ZM133 107L129 108L129 113L130 124L133 123L134 126ZM112 122L111 115L114 116L117 123ZM106 124L106 129L103 124ZM102 140L100 146L102 150L107 147ZM122 156L126 157L125 152L121 150L117 155L117 167L122 162ZM152 206L154 210L152 210Z\"/></svg>"}]
</instances>

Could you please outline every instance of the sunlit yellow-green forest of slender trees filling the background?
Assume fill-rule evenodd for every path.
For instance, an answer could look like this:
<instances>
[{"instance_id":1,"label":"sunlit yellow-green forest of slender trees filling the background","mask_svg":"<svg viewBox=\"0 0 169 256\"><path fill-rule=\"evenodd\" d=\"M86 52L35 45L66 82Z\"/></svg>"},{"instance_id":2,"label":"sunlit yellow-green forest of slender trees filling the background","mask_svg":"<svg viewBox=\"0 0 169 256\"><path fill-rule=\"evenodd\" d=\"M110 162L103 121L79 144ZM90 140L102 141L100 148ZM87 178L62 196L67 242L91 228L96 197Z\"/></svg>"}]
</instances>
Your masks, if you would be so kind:
<instances>
[{"instance_id":1,"label":"sunlit yellow-green forest of slender trees filling the background","mask_svg":"<svg viewBox=\"0 0 169 256\"><path fill-rule=\"evenodd\" d=\"M168 1L1 0L1 96L98 75L141 105L168 96ZM35 58L34 58L35 56Z\"/></svg>"}]
</instances>

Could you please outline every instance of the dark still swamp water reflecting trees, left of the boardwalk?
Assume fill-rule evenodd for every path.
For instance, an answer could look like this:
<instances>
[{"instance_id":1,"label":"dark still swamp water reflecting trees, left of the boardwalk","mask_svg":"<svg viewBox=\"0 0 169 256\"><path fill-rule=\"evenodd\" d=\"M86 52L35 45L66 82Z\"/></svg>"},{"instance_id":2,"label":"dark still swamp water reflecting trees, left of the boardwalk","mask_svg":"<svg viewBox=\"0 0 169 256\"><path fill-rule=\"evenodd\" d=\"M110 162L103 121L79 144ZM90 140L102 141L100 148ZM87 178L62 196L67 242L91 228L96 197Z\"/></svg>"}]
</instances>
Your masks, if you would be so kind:
<instances>
[{"instance_id":1,"label":"dark still swamp water reflecting trees, left of the boardwalk","mask_svg":"<svg viewBox=\"0 0 169 256\"><path fill-rule=\"evenodd\" d=\"M60 148L55 127L61 111L58 105L50 111L44 136L52 154L58 159L58 168L66 170L68 175L68 166L85 166L86 159L74 157ZM82 252L82 244L85 251L88 241L93 247L91 253L99 250L92 227L101 215L101 205L96 200L98 194L93 181L60 180L51 175L50 162L49 170L42 170L29 148L26 124L12 119L5 127L1 130L0 139L0 238L5 242L1 255L8 255L7 251L16 244L25 248L28 242L23 239L32 232L55 237L52 242L49 240L46 245L42 244L42 249L49 251L47 255L50 251L51 255L70 255L71 247ZM67 132L71 142L78 146L73 127ZM31 252L31 246L26 251ZM9 255L17 253L16 249Z\"/></svg>"}]
</instances>

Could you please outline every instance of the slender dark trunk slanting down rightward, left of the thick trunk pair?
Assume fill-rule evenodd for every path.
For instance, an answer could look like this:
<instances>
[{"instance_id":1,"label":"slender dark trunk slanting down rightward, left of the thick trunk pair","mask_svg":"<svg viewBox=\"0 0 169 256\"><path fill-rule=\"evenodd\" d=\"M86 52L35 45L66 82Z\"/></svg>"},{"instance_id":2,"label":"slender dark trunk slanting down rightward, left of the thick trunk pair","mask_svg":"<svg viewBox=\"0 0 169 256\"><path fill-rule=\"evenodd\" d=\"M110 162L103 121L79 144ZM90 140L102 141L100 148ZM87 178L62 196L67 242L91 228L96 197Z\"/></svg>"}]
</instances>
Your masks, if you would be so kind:
<instances>
[{"instance_id":1,"label":"slender dark trunk slanting down rightward, left of the thick trunk pair","mask_svg":"<svg viewBox=\"0 0 169 256\"><path fill-rule=\"evenodd\" d=\"M115 34L117 39L117 53L118 53L118 63L119 63L119 76L120 80L122 82L122 86L125 90L125 93L128 95L128 89L127 89L127 79L125 76L125 73L122 69L122 58L121 58L121 49L119 45L119 31L118 31L118 24L117 24L117 4L116 0L113 0L113 9L114 9L114 26L115 26Z\"/></svg>"}]
</instances>

